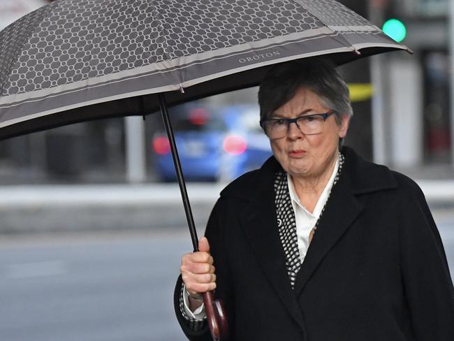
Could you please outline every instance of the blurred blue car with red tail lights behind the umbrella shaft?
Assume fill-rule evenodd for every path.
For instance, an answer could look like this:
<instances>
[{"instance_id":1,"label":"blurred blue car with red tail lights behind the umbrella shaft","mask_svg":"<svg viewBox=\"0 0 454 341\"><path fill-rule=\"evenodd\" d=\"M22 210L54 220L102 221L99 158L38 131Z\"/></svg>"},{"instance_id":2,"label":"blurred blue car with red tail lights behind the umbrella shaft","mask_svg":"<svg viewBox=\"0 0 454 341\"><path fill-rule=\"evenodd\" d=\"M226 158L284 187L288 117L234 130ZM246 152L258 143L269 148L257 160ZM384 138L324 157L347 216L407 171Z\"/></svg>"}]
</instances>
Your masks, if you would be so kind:
<instances>
[{"instance_id":1,"label":"blurred blue car with red tail lights behind the umbrella shaft","mask_svg":"<svg viewBox=\"0 0 454 341\"><path fill-rule=\"evenodd\" d=\"M230 181L271 155L256 106L186 103L170 109L170 120L188 181ZM156 173L163 181L175 181L166 133L157 133L152 145Z\"/></svg>"}]
</instances>

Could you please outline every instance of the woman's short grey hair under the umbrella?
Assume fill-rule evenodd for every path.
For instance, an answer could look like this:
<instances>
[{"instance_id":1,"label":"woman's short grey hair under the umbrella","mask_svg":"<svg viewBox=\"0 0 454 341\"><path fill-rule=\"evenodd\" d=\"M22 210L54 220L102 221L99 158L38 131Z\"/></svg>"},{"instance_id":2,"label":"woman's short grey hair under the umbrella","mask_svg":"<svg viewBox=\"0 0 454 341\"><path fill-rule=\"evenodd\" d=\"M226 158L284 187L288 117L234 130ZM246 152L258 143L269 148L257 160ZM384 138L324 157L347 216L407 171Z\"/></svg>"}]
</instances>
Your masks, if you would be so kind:
<instances>
[{"instance_id":1,"label":"woman's short grey hair under the umbrella","mask_svg":"<svg viewBox=\"0 0 454 341\"><path fill-rule=\"evenodd\" d=\"M267 119L301 87L310 89L324 106L335 111L337 124L341 124L342 115L353 116L349 87L335 65L323 59L302 59L277 64L265 75L258 89L260 118Z\"/></svg>"}]
</instances>

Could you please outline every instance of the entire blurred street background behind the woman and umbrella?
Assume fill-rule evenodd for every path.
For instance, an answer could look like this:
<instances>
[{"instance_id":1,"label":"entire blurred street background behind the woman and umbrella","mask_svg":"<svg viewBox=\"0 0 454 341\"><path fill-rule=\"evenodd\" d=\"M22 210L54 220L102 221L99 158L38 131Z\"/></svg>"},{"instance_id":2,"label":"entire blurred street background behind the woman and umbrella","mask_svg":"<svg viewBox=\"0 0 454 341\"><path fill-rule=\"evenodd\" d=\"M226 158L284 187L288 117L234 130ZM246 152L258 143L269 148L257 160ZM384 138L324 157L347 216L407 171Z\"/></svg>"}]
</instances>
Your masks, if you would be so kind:
<instances>
[{"instance_id":1,"label":"entire blurred street background behind the woman and umbrella","mask_svg":"<svg viewBox=\"0 0 454 341\"><path fill-rule=\"evenodd\" d=\"M346 145L425 192L454 269L454 1L341 0L402 41L342 66ZM45 0L0 0L0 29ZM170 110L203 233L219 191L270 147L256 88ZM159 114L0 141L0 340L184 340L173 316L191 251Z\"/></svg>"}]
</instances>

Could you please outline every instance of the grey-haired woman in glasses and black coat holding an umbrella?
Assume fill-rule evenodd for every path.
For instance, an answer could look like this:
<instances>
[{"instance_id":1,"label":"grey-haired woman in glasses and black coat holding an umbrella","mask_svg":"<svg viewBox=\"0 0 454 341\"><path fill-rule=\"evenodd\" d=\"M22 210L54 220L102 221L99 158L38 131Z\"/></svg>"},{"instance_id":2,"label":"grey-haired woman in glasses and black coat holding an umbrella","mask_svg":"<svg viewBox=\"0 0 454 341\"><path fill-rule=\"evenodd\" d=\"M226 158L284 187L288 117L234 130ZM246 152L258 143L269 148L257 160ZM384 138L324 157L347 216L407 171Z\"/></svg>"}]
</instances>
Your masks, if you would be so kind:
<instances>
[{"instance_id":1,"label":"grey-haired woman in glasses and black coat holding an umbrella","mask_svg":"<svg viewBox=\"0 0 454 341\"><path fill-rule=\"evenodd\" d=\"M211 340L200 293L233 340L453 341L454 289L423 193L342 146L349 89L323 61L275 66L258 92L273 157L221 192L175 309Z\"/></svg>"}]
</instances>

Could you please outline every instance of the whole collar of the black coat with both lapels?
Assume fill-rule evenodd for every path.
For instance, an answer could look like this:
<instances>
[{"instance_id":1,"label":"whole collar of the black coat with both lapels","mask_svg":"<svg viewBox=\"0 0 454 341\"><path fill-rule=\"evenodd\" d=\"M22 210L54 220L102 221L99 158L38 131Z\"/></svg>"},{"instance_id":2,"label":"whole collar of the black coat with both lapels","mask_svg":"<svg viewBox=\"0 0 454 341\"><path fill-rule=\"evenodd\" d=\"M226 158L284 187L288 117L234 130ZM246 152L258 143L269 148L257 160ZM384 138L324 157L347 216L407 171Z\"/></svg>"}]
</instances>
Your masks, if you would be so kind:
<instances>
[{"instance_id":1,"label":"whole collar of the black coat with both lapels","mask_svg":"<svg viewBox=\"0 0 454 341\"><path fill-rule=\"evenodd\" d=\"M274 207L274 173L281 168L277 160L271 157L260 170L243 175L221 192L221 196L245 201L244 209L238 215L242 230L275 293L302 328L305 327L302 326L302 312L296 298L325 255L363 210L357 196L397 187L393 174L385 166L365 161L349 147L342 148L342 153L345 156L344 168L318 222L317 233L307 250L293 290L288 280Z\"/></svg>"}]
</instances>

